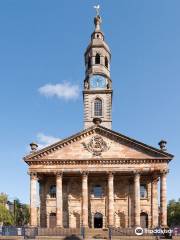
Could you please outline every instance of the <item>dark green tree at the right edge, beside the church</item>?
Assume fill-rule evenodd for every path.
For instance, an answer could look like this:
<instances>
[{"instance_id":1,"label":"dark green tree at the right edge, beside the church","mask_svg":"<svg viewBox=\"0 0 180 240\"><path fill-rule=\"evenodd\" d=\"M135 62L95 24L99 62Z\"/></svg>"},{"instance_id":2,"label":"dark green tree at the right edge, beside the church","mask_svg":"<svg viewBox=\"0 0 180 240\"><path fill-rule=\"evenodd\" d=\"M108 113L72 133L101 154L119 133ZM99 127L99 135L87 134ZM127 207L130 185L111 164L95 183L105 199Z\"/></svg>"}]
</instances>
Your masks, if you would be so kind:
<instances>
[{"instance_id":1,"label":"dark green tree at the right edge, beside the church","mask_svg":"<svg viewBox=\"0 0 180 240\"><path fill-rule=\"evenodd\" d=\"M180 199L170 200L167 207L168 225L170 227L180 226Z\"/></svg>"}]
</instances>

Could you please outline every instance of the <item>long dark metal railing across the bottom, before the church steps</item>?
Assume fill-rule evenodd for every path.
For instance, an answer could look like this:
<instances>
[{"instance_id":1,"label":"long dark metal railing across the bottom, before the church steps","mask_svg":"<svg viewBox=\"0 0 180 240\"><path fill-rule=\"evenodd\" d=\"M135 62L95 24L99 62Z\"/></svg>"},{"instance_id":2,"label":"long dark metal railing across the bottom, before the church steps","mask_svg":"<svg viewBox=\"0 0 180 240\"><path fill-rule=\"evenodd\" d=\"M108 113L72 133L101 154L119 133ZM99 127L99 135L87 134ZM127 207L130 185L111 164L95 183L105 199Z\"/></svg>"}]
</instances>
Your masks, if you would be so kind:
<instances>
[{"instance_id":1,"label":"long dark metal railing across the bottom, before the church steps","mask_svg":"<svg viewBox=\"0 0 180 240\"><path fill-rule=\"evenodd\" d=\"M38 227L15 227L15 226L0 226L0 236L22 236L24 239L35 238L36 236L64 236L65 239L73 236L74 239L84 239L87 234L99 234L107 236L106 239L112 239L113 236L138 236L140 232L136 232L136 228L115 228L110 227L106 229L106 234L102 229L101 231L96 231L97 229L86 229L81 228L38 228ZM100 229L99 229L100 230ZM152 231L150 231L152 230ZM153 233L155 229L142 229L142 236L159 236L163 237L165 235ZM176 230L176 231L175 231ZM177 229L174 229L172 235L178 235ZM171 237L172 237L171 235ZM170 237L170 236L169 236Z\"/></svg>"}]
</instances>

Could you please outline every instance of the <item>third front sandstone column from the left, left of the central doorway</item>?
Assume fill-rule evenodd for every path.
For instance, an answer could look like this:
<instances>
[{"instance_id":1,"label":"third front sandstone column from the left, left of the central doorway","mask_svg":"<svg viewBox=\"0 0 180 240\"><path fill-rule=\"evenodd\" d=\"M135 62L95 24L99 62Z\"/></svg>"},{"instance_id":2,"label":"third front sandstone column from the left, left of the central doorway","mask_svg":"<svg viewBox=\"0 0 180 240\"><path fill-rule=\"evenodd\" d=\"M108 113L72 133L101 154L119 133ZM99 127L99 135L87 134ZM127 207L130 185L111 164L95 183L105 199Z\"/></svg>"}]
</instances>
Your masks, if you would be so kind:
<instances>
[{"instance_id":1,"label":"third front sandstone column from the left, left of the central doorway","mask_svg":"<svg viewBox=\"0 0 180 240\"><path fill-rule=\"evenodd\" d=\"M88 227L88 174L82 174L82 223Z\"/></svg>"}]
</instances>

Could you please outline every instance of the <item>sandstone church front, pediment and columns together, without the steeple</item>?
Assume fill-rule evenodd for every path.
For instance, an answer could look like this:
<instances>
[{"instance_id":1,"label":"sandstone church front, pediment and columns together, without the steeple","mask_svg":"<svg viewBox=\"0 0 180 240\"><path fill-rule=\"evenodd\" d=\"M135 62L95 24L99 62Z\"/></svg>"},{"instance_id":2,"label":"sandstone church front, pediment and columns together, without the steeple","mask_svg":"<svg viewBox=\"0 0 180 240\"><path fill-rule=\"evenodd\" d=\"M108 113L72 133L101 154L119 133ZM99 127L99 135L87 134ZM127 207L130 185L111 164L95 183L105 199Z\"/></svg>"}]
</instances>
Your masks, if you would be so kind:
<instances>
[{"instance_id":1,"label":"sandstone church front, pediment and columns together, without the steeple","mask_svg":"<svg viewBox=\"0 0 180 240\"><path fill-rule=\"evenodd\" d=\"M97 146L84 145L97 136L103 140L99 151ZM31 175L31 225L37 225L35 182L39 181L42 227L93 228L97 213L102 227L155 227L159 224L160 181L160 221L165 226L166 174L171 158L166 152L96 125L34 151L25 157ZM56 186L54 192L52 186ZM102 191L98 196L93 192L96 186ZM142 197L141 186L146 189ZM142 222L143 217L147 223Z\"/></svg>"}]
</instances>

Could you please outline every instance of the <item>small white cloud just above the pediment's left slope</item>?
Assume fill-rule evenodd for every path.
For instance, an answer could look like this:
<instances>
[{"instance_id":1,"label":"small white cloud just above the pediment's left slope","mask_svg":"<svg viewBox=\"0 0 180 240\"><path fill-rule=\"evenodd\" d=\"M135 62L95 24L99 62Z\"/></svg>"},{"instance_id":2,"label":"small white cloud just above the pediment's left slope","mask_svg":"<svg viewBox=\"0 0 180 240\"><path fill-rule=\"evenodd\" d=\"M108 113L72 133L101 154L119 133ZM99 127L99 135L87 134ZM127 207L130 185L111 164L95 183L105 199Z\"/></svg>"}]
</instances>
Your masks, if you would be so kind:
<instances>
[{"instance_id":1,"label":"small white cloud just above the pediment's left slope","mask_svg":"<svg viewBox=\"0 0 180 240\"><path fill-rule=\"evenodd\" d=\"M61 140L60 138L48 136L48 135L45 135L44 133L37 134L37 143L38 143L39 149L41 149L43 147L47 147L48 145L51 145L60 140Z\"/></svg>"}]
</instances>

